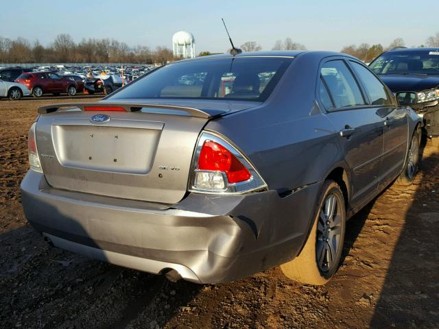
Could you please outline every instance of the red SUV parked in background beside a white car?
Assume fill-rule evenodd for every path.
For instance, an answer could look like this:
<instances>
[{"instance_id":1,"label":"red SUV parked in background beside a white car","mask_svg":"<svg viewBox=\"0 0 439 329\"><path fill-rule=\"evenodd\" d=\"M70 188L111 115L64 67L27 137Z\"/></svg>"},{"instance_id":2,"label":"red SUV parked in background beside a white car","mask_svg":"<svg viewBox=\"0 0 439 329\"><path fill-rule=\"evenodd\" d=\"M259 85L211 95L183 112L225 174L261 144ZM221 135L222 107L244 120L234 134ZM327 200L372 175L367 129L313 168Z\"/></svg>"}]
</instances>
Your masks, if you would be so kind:
<instances>
[{"instance_id":1,"label":"red SUV parked in background beside a white car","mask_svg":"<svg viewBox=\"0 0 439 329\"><path fill-rule=\"evenodd\" d=\"M43 94L67 93L75 96L78 85L75 81L54 72L27 72L16 78L15 82L25 84L31 90L32 96L41 97Z\"/></svg>"}]
</instances>

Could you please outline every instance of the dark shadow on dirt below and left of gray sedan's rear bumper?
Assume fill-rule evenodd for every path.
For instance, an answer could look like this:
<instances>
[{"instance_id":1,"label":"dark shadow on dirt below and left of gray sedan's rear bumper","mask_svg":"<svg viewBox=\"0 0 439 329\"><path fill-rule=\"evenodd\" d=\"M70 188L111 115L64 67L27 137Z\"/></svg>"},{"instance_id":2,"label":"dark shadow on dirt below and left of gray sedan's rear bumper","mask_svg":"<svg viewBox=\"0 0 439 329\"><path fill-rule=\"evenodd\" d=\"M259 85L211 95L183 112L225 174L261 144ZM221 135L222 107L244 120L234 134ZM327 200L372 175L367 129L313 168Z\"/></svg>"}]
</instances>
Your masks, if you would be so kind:
<instances>
[{"instance_id":1,"label":"dark shadow on dirt below and left of gray sedan's rear bumper","mask_svg":"<svg viewBox=\"0 0 439 329\"><path fill-rule=\"evenodd\" d=\"M50 247L29 224L0 252L0 328L155 328L202 289Z\"/></svg>"}]
</instances>

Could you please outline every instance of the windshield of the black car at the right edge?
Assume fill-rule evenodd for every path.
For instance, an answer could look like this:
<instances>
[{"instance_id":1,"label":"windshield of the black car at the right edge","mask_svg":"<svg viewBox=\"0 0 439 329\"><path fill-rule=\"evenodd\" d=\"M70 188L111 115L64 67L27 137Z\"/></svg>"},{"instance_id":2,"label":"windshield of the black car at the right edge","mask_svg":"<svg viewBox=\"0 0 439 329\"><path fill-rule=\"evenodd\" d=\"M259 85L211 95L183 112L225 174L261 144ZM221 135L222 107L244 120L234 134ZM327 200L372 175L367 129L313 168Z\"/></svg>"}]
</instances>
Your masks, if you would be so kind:
<instances>
[{"instance_id":1,"label":"windshield of the black car at the right edge","mask_svg":"<svg viewBox=\"0 0 439 329\"><path fill-rule=\"evenodd\" d=\"M439 75L438 51L389 51L370 64L376 74Z\"/></svg>"}]
</instances>

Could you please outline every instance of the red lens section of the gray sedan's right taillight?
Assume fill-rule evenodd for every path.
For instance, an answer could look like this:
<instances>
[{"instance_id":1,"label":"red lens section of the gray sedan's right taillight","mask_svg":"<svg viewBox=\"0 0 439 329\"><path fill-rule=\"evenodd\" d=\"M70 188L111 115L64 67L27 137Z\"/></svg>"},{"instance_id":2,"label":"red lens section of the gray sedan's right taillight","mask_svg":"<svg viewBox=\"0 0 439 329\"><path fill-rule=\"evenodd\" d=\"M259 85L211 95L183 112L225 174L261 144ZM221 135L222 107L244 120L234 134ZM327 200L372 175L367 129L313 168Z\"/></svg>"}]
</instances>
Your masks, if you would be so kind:
<instances>
[{"instance_id":1,"label":"red lens section of the gray sedan's right taillight","mask_svg":"<svg viewBox=\"0 0 439 329\"><path fill-rule=\"evenodd\" d=\"M198 158L198 169L222 171L230 184L249 180L250 171L226 147L206 140Z\"/></svg>"}]
</instances>

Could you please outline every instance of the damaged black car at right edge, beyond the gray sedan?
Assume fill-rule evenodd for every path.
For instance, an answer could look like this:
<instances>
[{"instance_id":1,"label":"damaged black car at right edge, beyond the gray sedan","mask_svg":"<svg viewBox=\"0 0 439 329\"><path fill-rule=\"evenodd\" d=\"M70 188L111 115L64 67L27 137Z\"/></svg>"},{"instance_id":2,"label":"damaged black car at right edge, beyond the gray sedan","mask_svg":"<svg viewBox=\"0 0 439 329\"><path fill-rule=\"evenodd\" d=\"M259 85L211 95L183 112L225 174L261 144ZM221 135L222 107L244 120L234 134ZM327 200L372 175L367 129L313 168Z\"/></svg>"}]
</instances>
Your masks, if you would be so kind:
<instances>
[{"instance_id":1,"label":"damaged black car at right edge, beyond the gray sedan","mask_svg":"<svg viewBox=\"0 0 439 329\"><path fill-rule=\"evenodd\" d=\"M415 91L410 106L423 117L427 136L439 136L439 48L385 51L370 69L393 93Z\"/></svg>"}]
</instances>

